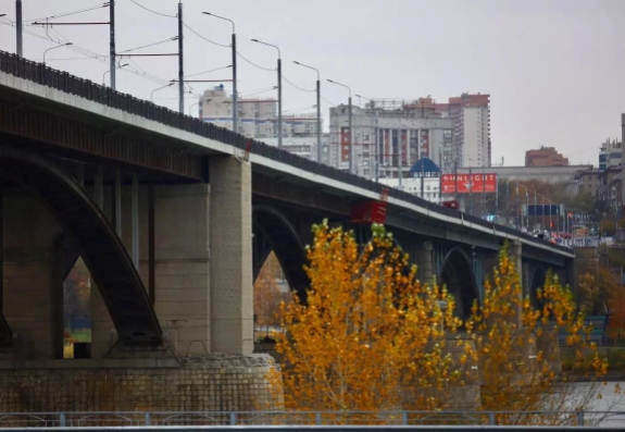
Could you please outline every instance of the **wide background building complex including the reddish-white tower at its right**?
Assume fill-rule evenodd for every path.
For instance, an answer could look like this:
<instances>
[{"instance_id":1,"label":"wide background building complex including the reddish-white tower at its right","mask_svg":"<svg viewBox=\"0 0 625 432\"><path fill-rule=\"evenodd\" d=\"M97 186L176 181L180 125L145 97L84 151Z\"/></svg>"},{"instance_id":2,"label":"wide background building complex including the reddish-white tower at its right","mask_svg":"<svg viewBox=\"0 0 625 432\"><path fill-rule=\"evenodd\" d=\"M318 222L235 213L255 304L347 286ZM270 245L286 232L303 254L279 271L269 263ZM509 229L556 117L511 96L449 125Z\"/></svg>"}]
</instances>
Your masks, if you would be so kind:
<instances>
[{"instance_id":1,"label":"wide background building complex including the reddish-white tower at its right","mask_svg":"<svg viewBox=\"0 0 625 432\"><path fill-rule=\"evenodd\" d=\"M463 94L436 103L376 99L352 108L353 171L373 177L375 151L380 176L398 176L422 156L443 172L454 166L490 166L490 96ZM376 127L377 124L377 127ZM377 134L376 134L377 131ZM349 168L348 107L330 109L330 164ZM373 147L373 148L372 148ZM401 157L400 157L401 155Z\"/></svg>"}]
</instances>

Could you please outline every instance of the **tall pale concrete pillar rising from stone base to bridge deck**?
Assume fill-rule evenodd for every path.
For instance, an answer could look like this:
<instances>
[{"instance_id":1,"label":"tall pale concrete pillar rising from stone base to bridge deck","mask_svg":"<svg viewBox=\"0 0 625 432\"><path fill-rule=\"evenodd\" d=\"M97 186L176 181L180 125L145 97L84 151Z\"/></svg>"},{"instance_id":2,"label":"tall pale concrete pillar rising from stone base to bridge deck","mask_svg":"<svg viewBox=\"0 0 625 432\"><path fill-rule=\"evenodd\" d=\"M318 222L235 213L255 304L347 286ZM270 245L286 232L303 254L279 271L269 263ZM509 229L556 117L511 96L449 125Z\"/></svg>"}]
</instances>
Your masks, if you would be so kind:
<instances>
[{"instance_id":1,"label":"tall pale concrete pillar rising from stone base to bridge deck","mask_svg":"<svg viewBox=\"0 0 625 432\"><path fill-rule=\"evenodd\" d=\"M211 350L253 350L251 166L230 157L209 161L211 182Z\"/></svg>"}]
</instances>

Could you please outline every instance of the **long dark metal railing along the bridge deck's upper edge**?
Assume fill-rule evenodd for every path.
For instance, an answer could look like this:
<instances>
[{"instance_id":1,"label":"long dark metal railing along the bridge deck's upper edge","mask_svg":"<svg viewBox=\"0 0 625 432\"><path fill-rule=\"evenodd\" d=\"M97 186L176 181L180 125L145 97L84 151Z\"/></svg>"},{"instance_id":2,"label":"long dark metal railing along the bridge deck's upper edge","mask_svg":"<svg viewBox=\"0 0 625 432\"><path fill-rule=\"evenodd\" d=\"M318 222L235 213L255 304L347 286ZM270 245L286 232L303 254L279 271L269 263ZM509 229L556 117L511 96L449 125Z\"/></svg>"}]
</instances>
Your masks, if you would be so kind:
<instances>
[{"instance_id":1,"label":"long dark metal railing along the bridge deck's upper edge","mask_svg":"<svg viewBox=\"0 0 625 432\"><path fill-rule=\"evenodd\" d=\"M237 134L226 128L215 126L214 124L202 122L201 120L190 115L175 112L167 108L159 107L147 100L138 99L132 95L122 94L109 87L96 84L89 79L79 78L77 76L71 75L67 72L51 69L46 66L43 63L26 60L7 51L0 51L0 72L4 72L20 78L28 79L37 84L55 88L71 95L76 95L87 100L115 108L129 114L139 115L141 118L152 120L167 126L176 127L199 136L203 136L209 139L228 144L240 150L245 150L247 148L247 144L251 140L252 153L260 155L276 162L283 162L285 164L307 171L311 174L322 175L352 186L374 192L376 194L382 194L384 187L384 185L379 183L372 182L359 175L350 174L346 171L341 171L323 163L317 163L309 159L301 158L286 150L282 150L267 144L250 139L243 135ZM571 249L566 247L554 245L547 240L533 237L529 234L522 233L509 226L487 222L474 215L466 213L461 214L458 210L438 206L403 190L390 188L389 196L420 206L434 213L443 214L446 217L459 220L462 219L489 230L497 227L497 230L500 232L518 236L527 242L548 245L555 250L571 252Z\"/></svg>"}]
</instances>

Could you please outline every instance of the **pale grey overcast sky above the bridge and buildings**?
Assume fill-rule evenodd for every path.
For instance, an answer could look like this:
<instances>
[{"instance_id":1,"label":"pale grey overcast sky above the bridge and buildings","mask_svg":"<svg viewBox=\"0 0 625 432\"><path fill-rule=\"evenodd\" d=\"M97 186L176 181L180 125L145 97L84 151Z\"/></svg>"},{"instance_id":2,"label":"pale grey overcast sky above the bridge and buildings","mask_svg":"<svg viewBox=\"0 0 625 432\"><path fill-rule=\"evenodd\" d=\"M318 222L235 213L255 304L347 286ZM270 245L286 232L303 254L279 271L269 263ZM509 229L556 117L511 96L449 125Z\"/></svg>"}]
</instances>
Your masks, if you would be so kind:
<instances>
[{"instance_id":1,"label":"pale grey overcast sky above the bridge and buildings","mask_svg":"<svg viewBox=\"0 0 625 432\"><path fill-rule=\"evenodd\" d=\"M177 0L136 0L165 15L176 15ZM23 0L24 20L57 15L91 5L89 0ZM353 95L411 100L432 95L437 101L463 91L491 95L492 160L523 164L525 150L554 146L574 163L598 163L598 148L621 136L625 112L625 1L623 0L229 0L184 2L184 21L212 45L185 29L185 74L232 64L228 22L236 23L238 51L249 61L275 69L277 52L250 41L280 47L283 73L303 89L314 89L315 73L293 60L317 67L322 76L323 115L332 104ZM0 14L14 20L14 1L0 0ZM59 22L107 22L108 9L76 14ZM2 20L2 18L0 18ZM46 37L41 27L29 32ZM75 47L109 52L109 27L54 27ZM146 11L132 0L116 2L117 52L177 35L174 17ZM58 39L59 34L52 34ZM24 55L41 61L54 44L24 35ZM15 29L0 26L0 49L15 51ZM177 42L137 53L176 52ZM108 70L100 59L79 57L67 48L46 54L49 65L102 82ZM126 62L126 61L124 61ZM239 92L275 97L273 71L238 59ZM166 81L177 77L177 58L134 58L129 70ZM229 77L229 70L199 79ZM117 74L117 89L149 99L159 84L132 73ZM108 77L107 77L108 79ZM193 84L201 92L211 84ZM229 85L228 85L229 87ZM264 92L257 92L265 89ZM177 109L177 92L165 88L154 101ZM187 112L197 101L187 95ZM364 100L362 101L364 103ZM314 92L284 83L284 110L312 112ZM354 103L359 98L354 96ZM192 108L197 115L197 106ZM327 123L326 123L327 124Z\"/></svg>"}]
</instances>

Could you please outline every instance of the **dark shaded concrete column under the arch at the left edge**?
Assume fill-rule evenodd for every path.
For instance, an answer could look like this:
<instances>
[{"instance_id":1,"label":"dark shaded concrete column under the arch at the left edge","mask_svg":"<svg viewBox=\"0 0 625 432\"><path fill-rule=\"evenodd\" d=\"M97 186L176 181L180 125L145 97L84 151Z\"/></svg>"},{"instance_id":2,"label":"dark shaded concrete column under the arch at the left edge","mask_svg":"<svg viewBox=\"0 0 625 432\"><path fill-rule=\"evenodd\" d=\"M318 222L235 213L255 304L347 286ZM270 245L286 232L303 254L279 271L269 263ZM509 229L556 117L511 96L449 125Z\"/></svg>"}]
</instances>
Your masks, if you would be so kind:
<instances>
[{"instance_id":1,"label":"dark shaded concrete column under the arch at the left edge","mask_svg":"<svg viewBox=\"0 0 625 432\"><path fill-rule=\"evenodd\" d=\"M22 188L5 188L4 316L34 360L62 353L63 282L55 270L61 234L37 198Z\"/></svg>"}]
</instances>

